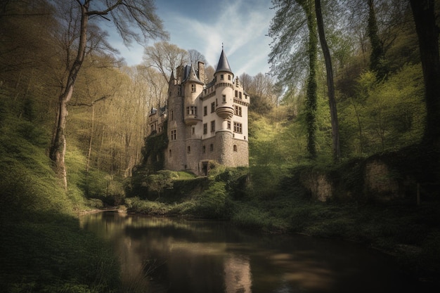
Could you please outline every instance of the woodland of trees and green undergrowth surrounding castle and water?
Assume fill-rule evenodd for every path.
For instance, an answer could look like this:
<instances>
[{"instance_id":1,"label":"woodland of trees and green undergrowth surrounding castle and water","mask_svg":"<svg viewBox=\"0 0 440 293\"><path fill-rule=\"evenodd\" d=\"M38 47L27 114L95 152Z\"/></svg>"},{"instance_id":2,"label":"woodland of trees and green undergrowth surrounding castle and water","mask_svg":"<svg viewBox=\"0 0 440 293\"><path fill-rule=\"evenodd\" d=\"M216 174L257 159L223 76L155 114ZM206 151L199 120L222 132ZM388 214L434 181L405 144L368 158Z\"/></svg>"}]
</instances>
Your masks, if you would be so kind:
<instances>
[{"instance_id":1,"label":"woodland of trees and green undergrowth surrounding castle and water","mask_svg":"<svg viewBox=\"0 0 440 293\"><path fill-rule=\"evenodd\" d=\"M439 281L438 1L273 0L271 72L239 76L250 167L207 178L148 169L147 119L175 67L204 61L209 76L215 65L169 41L152 1L63 2L0 1L6 292L127 292L108 243L79 228L79 214L103 207L341 237ZM124 44L150 40L138 65L112 48L108 20ZM414 175L418 202L316 202L295 176L339 172L356 185L354 162L371 157L403 158L394 175Z\"/></svg>"}]
</instances>

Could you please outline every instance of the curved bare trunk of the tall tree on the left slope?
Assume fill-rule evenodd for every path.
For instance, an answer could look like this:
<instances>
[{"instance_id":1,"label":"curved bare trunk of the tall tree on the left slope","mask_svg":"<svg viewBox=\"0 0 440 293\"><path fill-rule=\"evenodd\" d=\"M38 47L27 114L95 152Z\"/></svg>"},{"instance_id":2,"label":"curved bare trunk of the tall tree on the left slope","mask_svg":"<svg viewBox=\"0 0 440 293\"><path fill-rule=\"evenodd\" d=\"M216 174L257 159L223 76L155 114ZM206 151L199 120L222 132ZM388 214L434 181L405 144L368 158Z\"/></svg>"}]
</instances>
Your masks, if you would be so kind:
<instances>
[{"instance_id":1,"label":"curved bare trunk of the tall tree on the left slope","mask_svg":"<svg viewBox=\"0 0 440 293\"><path fill-rule=\"evenodd\" d=\"M89 20L89 16L86 13L88 8L89 2L86 2L86 4L81 6L81 28L77 57L75 58L75 62L73 63L72 67L70 68L64 91L58 97L58 120L56 122L56 133L53 138L49 152L49 157L53 162L53 169L56 171L56 174L60 176L60 178L63 178L63 185L65 190L67 190L67 172L65 169L64 161L66 150L65 124L67 121L67 103L69 103L70 99L72 98L73 87L75 85L78 72L81 69L86 53L87 22Z\"/></svg>"}]
</instances>

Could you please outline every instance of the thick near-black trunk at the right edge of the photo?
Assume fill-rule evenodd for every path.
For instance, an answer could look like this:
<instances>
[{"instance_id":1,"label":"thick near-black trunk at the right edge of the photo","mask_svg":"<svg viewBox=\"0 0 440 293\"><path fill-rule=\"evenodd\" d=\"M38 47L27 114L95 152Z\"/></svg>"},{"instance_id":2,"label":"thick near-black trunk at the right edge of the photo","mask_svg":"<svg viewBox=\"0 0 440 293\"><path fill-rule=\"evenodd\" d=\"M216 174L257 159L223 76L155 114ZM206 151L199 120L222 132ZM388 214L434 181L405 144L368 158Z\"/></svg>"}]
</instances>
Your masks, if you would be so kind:
<instances>
[{"instance_id":1,"label":"thick near-black trunk at the right edge of the photo","mask_svg":"<svg viewBox=\"0 0 440 293\"><path fill-rule=\"evenodd\" d=\"M434 1L410 0L417 31L427 110L424 141L440 144L440 58L439 27L436 26Z\"/></svg>"}]
</instances>

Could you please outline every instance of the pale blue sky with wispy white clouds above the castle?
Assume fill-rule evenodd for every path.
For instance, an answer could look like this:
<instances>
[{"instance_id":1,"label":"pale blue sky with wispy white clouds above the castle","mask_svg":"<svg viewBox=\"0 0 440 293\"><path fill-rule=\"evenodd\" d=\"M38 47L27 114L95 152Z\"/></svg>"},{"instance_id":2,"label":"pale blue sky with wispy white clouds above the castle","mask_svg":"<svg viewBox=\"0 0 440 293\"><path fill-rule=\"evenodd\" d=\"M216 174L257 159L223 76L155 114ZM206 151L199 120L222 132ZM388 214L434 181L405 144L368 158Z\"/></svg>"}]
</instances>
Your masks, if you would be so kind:
<instances>
[{"instance_id":1,"label":"pale blue sky with wispy white clouds above the castle","mask_svg":"<svg viewBox=\"0 0 440 293\"><path fill-rule=\"evenodd\" d=\"M271 38L267 34L275 13L271 5L270 0L155 0L170 44L199 51L214 68L223 44L235 76L269 72ZM142 46L125 48L120 42L113 46L127 65L142 63Z\"/></svg>"}]
</instances>

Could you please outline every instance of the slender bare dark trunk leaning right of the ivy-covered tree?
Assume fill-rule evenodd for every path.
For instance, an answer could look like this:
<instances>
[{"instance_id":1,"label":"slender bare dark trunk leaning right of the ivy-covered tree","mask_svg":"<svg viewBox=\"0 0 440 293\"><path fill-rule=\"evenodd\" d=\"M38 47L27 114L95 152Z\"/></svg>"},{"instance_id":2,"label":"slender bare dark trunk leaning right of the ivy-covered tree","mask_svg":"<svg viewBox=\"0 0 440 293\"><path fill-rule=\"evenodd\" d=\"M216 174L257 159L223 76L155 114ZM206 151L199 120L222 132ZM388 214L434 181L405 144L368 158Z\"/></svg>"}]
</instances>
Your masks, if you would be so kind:
<instances>
[{"instance_id":1,"label":"slender bare dark trunk leaning right of the ivy-covered tree","mask_svg":"<svg viewBox=\"0 0 440 293\"><path fill-rule=\"evenodd\" d=\"M339 145L339 122L337 121L337 107L335 98L335 84L333 82L333 67L330 50L325 39L323 14L321 13L321 0L315 0L316 22L318 24L319 41L323 48L325 70L327 70L328 103L330 105L330 119L332 123L332 154L333 161L339 162L341 148Z\"/></svg>"}]
</instances>

